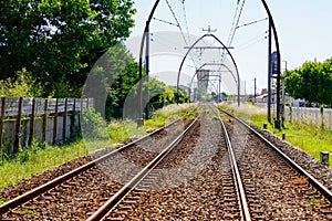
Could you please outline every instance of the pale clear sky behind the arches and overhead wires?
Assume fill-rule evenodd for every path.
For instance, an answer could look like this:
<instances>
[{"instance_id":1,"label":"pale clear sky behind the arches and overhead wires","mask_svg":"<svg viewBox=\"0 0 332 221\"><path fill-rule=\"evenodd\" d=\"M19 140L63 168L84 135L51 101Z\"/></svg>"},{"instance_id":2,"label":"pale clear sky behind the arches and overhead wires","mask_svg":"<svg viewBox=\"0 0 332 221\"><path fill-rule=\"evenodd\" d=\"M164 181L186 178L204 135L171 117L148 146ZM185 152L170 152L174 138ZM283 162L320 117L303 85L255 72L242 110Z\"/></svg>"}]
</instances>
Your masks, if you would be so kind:
<instances>
[{"instance_id":1,"label":"pale clear sky behind the arches and overhead wires","mask_svg":"<svg viewBox=\"0 0 332 221\"><path fill-rule=\"evenodd\" d=\"M184 1L184 4L180 2ZM240 0L240 4L243 0ZM168 3L167 3L168 2ZM197 39L210 27L211 32L225 45L228 45L238 0L160 0L151 23L151 71L166 84L176 84L181 61ZM154 0L135 0L137 13L134 17L135 28L127 41L127 46L137 59L141 39ZM272 13L281 52L281 70L297 69L305 61L324 61L332 57L332 1L330 0L267 0ZM237 11L239 13L239 10ZM260 0L246 0L241 17L229 49L238 67L241 93L253 93L253 78L257 78L257 91L268 86L268 21ZM160 21L162 20L162 21ZM180 29L174 24L180 24ZM258 21L258 22L255 22ZM167 22L167 23L166 23ZM243 25L255 22L250 25ZM169 24L172 23L172 24ZM183 38L181 32L185 34ZM186 39L186 41L184 40ZM206 38L196 46L221 46L211 38ZM187 46L187 48L186 48ZM274 51L272 40L272 51ZM181 69L180 84L189 85L196 70L205 63L218 63L222 53L219 49L195 49L185 60ZM200 59L199 59L200 57ZM232 93L236 73L230 56L224 62L232 73L221 74L222 88ZM211 70L216 67L210 67ZM220 66L218 67L220 71ZM211 81L210 90L216 90ZM246 82L246 83L245 83ZM195 84L195 80L194 80Z\"/></svg>"}]
</instances>

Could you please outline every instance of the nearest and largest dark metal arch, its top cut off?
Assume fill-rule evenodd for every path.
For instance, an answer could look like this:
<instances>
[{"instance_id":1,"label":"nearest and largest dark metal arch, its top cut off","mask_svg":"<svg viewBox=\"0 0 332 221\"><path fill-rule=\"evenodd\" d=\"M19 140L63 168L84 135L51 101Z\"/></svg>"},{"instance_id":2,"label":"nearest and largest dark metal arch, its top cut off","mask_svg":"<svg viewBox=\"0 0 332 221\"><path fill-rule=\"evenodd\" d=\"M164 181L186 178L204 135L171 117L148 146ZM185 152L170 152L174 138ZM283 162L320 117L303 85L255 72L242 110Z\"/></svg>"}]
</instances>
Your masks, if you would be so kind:
<instances>
[{"instance_id":1,"label":"nearest and largest dark metal arch, its top cut off","mask_svg":"<svg viewBox=\"0 0 332 221\"><path fill-rule=\"evenodd\" d=\"M151 13L149 13L149 17L146 21L146 24L145 24L145 29L144 29L144 34L143 34L143 38L142 38L142 43L141 43L141 51L139 51L139 80L142 80L142 67L143 67L143 48L144 48L144 40L147 35L147 32L148 32L148 28L149 28L149 23L151 23L151 20L153 19L153 15L156 11L156 8L158 7L160 0L156 0ZM276 28L276 24L274 24L274 21L273 21L273 18L272 18L272 14L271 14L271 11L266 2L266 0L261 0L261 3L263 4L264 7L264 10L266 12L268 13L268 17L269 17L269 20L271 22L271 27L272 27L272 30L273 30L273 36L274 36L274 42L276 42L276 50L277 50L277 120L279 123L279 128L280 128L280 61L281 61L281 57L280 57L280 48L279 48L279 40L278 40L278 33L277 33L277 28ZM138 86L138 112L139 112L139 115L141 115L141 118L142 118L142 106L143 106L143 101L142 101L142 86L143 86L143 83L142 81L139 81L139 86Z\"/></svg>"}]
</instances>

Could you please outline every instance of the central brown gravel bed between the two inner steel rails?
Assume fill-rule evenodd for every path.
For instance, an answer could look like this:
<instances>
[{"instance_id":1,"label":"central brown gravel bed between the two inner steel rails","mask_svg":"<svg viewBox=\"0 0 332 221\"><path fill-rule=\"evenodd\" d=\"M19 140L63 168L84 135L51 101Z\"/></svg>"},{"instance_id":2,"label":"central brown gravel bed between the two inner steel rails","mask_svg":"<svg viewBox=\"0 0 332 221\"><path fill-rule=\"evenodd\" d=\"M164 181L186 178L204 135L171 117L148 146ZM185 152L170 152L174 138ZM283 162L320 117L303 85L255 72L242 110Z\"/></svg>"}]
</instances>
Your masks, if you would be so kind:
<instances>
[{"instance_id":1,"label":"central brown gravel bed between the two inner steel rails","mask_svg":"<svg viewBox=\"0 0 332 221\"><path fill-rule=\"evenodd\" d=\"M124 198L110 199L89 220L250 220L226 128L211 107L205 108L199 127L151 175L128 183Z\"/></svg>"}]
</instances>

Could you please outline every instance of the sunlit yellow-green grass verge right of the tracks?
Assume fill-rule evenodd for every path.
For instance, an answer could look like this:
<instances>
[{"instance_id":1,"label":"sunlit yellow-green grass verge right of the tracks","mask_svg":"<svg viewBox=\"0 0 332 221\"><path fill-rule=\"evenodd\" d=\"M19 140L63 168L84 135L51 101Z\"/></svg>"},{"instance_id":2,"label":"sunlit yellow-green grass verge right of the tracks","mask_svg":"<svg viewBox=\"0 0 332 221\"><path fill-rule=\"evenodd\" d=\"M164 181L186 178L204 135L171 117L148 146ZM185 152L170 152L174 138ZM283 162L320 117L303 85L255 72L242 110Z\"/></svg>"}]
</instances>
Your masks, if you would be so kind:
<instances>
[{"instance_id":1,"label":"sunlit yellow-green grass verge right of the tracks","mask_svg":"<svg viewBox=\"0 0 332 221\"><path fill-rule=\"evenodd\" d=\"M320 160L321 151L332 151L332 131L321 127L305 124L305 123L284 123L284 128L276 129L273 124L267 120L267 113L264 109L257 108L252 105L242 105L238 108L236 106L222 106L224 108L237 114L250 124L262 127L267 124L267 129L282 138L286 135L286 140L291 145L300 148L304 152ZM332 166L332 156L329 165Z\"/></svg>"}]
</instances>

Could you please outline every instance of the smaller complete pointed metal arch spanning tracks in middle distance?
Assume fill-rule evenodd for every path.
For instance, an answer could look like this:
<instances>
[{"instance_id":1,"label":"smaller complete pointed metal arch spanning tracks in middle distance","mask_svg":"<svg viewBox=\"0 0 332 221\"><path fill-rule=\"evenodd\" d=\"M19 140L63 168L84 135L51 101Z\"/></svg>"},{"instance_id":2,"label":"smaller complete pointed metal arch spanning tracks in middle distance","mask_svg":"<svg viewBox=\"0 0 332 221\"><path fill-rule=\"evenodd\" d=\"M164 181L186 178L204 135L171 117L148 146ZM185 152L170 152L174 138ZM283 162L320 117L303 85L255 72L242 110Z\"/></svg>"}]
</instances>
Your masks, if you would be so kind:
<instances>
[{"instance_id":1,"label":"smaller complete pointed metal arch spanning tracks in middle distance","mask_svg":"<svg viewBox=\"0 0 332 221\"><path fill-rule=\"evenodd\" d=\"M216 41L218 41L227 51L227 53L229 54L235 67L236 67L236 72L237 72L237 76L238 76L238 106L240 106L240 76L239 76L239 71L238 71L238 66L237 66L237 63L234 59L234 56L231 55L230 51L227 49L227 46L214 34L211 33L207 33L207 34L204 34L203 36L200 36L187 51L187 53L185 54L183 61L181 61L181 64L180 64L180 67L178 70L178 74L177 74L177 97L176 97L176 103L178 104L179 102L179 97L178 97L178 94L179 94L179 77L180 77L180 73L181 73L181 70L183 70L183 66L184 66L184 63L188 56L188 54L190 53L190 51L195 48L195 45L200 42L203 39L205 38L208 38L208 36L211 36L214 38Z\"/></svg>"}]
</instances>

